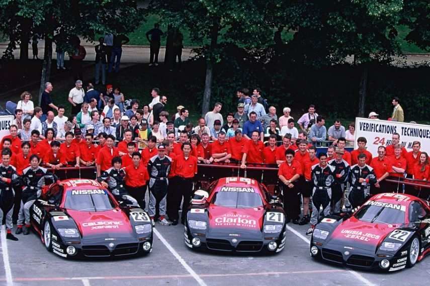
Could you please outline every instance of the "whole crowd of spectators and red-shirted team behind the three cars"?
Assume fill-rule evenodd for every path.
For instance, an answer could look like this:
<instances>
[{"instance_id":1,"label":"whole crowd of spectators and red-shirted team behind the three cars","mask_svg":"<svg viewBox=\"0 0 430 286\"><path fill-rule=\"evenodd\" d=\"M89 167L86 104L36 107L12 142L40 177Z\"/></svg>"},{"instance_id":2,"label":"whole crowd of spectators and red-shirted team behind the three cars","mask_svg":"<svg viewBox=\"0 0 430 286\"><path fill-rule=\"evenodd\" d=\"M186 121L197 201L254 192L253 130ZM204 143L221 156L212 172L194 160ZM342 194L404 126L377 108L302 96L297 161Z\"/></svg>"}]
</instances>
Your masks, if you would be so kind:
<instances>
[{"instance_id":1,"label":"whole crowd of spectators and red-shirted team behind the three cars","mask_svg":"<svg viewBox=\"0 0 430 286\"><path fill-rule=\"evenodd\" d=\"M430 178L428 155L420 151L419 142L406 152L399 145L400 135L394 133L392 145L380 146L373 158L366 138L360 137L359 148L349 152L346 148L355 141L353 123L346 130L335 120L327 131L314 105L297 121L288 107L278 117L260 88L252 94L246 88L238 90L237 111L225 118L222 104L216 103L196 126L184 106L170 115L167 97L156 87L151 102L142 105L126 100L118 86L108 84L101 92L88 83L84 90L82 81L76 80L68 94L70 117L64 115L64 106L54 104L52 90L47 82L40 107L34 107L29 92L22 93L10 135L1 142L0 194L9 190L10 196L0 198L0 218L6 216L9 239L17 240L12 234L14 221L17 234L28 234L29 208L40 195L41 179L52 178L47 169L95 167L97 180L118 201L147 207L153 224L158 218L161 225L177 225L185 221L186 212L180 217L179 210L181 202L183 210L188 208L198 164L235 163L242 169L270 165L279 168L287 222L310 223L309 233L321 206L324 215L343 205L359 207L369 194L387 189L388 176ZM399 111L399 100L395 101L393 114ZM317 158L319 142L329 146ZM406 192L420 195L413 187Z\"/></svg>"}]
</instances>

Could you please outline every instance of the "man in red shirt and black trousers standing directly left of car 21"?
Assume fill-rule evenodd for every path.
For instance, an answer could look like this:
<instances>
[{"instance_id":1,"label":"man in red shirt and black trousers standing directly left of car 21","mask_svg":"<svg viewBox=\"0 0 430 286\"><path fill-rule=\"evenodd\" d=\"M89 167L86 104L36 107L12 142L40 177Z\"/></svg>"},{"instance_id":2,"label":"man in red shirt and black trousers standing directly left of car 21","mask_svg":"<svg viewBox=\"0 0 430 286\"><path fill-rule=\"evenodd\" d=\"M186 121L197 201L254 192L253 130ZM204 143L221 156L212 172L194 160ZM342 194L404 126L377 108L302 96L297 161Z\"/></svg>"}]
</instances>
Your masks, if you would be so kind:
<instances>
[{"instance_id":1,"label":"man in red shirt and black trousers standing directly left of car 21","mask_svg":"<svg viewBox=\"0 0 430 286\"><path fill-rule=\"evenodd\" d=\"M182 151L183 154L177 156L175 162L175 173L178 176L178 188L176 190L178 197L175 214L178 213L183 200L181 223L184 224L193 193L193 179L197 174L197 158L191 155L192 147L188 142L182 145Z\"/></svg>"}]
</instances>

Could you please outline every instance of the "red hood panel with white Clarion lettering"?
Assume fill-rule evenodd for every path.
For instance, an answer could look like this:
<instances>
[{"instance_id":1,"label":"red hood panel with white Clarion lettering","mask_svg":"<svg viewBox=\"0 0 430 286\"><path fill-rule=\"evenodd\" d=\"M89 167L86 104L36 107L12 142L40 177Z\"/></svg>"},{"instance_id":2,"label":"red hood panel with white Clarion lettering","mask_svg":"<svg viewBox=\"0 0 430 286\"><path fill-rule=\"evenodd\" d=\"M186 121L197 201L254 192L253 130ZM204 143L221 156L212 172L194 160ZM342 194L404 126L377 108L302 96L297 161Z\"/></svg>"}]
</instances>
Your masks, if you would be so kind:
<instances>
[{"instance_id":1,"label":"red hood panel with white Clarion lettering","mask_svg":"<svg viewBox=\"0 0 430 286\"><path fill-rule=\"evenodd\" d=\"M221 229L234 229L236 232L261 232L265 209L247 208L233 209L210 205L209 232L217 232Z\"/></svg>"}]
</instances>

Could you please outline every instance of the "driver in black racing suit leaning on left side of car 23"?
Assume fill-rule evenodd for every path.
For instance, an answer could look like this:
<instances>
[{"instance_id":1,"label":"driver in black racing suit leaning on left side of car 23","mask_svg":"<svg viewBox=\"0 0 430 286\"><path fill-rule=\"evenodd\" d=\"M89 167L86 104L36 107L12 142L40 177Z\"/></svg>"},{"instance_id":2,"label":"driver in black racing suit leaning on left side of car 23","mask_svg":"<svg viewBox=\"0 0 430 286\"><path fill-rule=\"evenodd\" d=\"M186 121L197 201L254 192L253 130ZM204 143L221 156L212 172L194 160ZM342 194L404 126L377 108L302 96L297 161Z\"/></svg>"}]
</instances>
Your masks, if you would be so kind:
<instances>
[{"instance_id":1,"label":"driver in black racing suit leaning on left side of car 23","mask_svg":"<svg viewBox=\"0 0 430 286\"><path fill-rule=\"evenodd\" d=\"M20 213L18 218L18 227L16 234L23 233L27 235L30 233L30 208L33 206L37 198L42 192L42 186L45 185L46 180L50 183L56 182L57 177L49 172L47 169L39 166L39 157L31 155L30 166L23 171L23 184L22 201L20 203ZM25 227L24 226L25 223Z\"/></svg>"}]
</instances>

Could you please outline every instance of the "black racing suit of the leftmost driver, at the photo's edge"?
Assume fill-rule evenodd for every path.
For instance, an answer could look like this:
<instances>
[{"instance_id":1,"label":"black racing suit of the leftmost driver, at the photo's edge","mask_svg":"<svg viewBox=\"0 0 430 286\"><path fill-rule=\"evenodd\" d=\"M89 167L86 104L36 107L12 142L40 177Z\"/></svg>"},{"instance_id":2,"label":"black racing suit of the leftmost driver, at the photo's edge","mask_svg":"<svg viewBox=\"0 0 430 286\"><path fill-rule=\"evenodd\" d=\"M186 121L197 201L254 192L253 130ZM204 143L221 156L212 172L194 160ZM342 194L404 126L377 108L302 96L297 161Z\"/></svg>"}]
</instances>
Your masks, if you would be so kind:
<instances>
[{"instance_id":1,"label":"black racing suit of the leftmost driver, at the photo's edge","mask_svg":"<svg viewBox=\"0 0 430 286\"><path fill-rule=\"evenodd\" d=\"M3 178L8 181L4 182ZM5 166L0 164L0 222L3 222L3 216L6 216L6 228L11 230L12 213L14 212L15 192L13 186L21 184L21 178L17 174L14 166Z\"/></svg>"}]
</instances>

